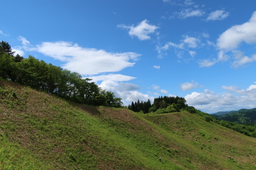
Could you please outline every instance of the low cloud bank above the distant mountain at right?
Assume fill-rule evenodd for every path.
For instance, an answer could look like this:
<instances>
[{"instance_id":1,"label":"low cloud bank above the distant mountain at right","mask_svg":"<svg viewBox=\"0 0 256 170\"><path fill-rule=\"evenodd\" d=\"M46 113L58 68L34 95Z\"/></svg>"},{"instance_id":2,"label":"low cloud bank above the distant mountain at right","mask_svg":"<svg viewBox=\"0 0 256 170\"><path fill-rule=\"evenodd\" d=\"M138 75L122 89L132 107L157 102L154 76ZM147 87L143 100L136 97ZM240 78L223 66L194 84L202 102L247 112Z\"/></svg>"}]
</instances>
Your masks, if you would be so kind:
<instances>
[{"instance_id":1,"label":"low cloud bank above the distant mountain at right","mask_svg":"<svg viewBox=\"0 0 256 170\"><path fill-rule=\"evenodd\" d=\"M215 94L205 89L204 92L187 94L185 99L188 105L208 113L256 107L256 85L250 85L247 89L222 86L222 89L226 92Z\"/></svg>"}]
</instances>

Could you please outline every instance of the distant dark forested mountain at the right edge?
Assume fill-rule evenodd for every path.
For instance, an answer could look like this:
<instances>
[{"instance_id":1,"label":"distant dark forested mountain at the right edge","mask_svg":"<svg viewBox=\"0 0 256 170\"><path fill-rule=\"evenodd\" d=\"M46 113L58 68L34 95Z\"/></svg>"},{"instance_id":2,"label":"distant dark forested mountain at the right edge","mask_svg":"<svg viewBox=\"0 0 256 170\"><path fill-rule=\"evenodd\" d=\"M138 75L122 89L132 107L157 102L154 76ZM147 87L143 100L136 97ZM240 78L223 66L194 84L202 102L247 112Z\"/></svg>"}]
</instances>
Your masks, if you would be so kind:
<instances>
[{"instance_id":1,"label":"distant dark forested mountain at the right edge","mask_svg":"<svg viewBox=\"0 0 256 170\"><path fill-rule=\"evenodd\" d=\"M227 120L238 124L256 124L256 108L217 112L211 115L215 116L219 120Z\"/></svg>"}]
</instances>

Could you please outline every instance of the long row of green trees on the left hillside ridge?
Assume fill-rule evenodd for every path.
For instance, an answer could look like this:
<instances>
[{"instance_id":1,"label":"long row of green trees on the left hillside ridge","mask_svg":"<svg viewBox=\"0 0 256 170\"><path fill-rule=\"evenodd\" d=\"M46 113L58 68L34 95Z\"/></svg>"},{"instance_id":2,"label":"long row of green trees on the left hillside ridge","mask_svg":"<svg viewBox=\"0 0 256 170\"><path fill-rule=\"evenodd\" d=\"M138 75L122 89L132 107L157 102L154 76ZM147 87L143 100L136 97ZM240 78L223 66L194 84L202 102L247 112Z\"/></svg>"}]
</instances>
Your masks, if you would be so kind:
<instances>
[{"instance_id":1,"label":"long row of green trees on the left hillside ridge","mask_svg":"<svg viewBox=\"0 0 256 170\"><path fill-rule=\"evenodd\" d=\"M55 94L73 102L121 107L120 98L111 91L102 90L92 79L83 79L77 72L38 60L33 56L14 56L8 42L0 42L0 77L30 86L36 90Z\"/></svg>"}]
</instances>

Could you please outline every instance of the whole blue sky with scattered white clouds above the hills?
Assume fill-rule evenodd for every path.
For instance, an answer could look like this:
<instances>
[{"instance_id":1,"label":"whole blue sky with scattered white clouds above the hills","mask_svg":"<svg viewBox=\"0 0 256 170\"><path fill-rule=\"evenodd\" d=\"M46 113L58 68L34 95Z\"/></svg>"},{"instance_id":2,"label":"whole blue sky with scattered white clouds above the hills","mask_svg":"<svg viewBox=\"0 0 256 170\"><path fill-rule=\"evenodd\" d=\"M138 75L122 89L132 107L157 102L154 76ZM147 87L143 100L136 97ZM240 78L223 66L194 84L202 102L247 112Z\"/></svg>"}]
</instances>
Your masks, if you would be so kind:
<instances>
[{"instance_id":1,"label":"whole blue sky with scattered white clouds above the hills","mask_svg":"<svg viewBox=\"0 0 256 170\"><path fill-rule=\"evenodd\" d=\"M1 6L0 40L13 51L92 78L126 105L178 95L208 113L256 107L255 0Z\"/></svg>"}]
</instances>

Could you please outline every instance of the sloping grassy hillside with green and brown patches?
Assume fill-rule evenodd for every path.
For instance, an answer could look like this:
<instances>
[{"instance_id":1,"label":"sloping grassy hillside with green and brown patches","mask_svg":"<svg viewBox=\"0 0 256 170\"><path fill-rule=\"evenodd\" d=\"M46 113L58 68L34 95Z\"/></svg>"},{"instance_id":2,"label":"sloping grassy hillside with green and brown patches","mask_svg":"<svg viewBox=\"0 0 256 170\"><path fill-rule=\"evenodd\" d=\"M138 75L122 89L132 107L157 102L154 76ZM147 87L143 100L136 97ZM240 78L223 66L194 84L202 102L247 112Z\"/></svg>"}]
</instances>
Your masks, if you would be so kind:
<instances>
[{"instance_id":1,"label":"sloping grassy hillside with green and brown patches","mask_svg":"<svg viewBox=\"0 0 256 170\"><path fill-rule=\"evenodd\" d=\"M79 105L0 81L0 169L256 169L255 142L197 114Z\"/></svg>"}]
</instances>

